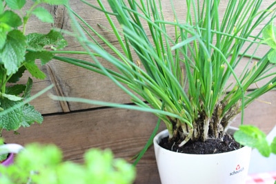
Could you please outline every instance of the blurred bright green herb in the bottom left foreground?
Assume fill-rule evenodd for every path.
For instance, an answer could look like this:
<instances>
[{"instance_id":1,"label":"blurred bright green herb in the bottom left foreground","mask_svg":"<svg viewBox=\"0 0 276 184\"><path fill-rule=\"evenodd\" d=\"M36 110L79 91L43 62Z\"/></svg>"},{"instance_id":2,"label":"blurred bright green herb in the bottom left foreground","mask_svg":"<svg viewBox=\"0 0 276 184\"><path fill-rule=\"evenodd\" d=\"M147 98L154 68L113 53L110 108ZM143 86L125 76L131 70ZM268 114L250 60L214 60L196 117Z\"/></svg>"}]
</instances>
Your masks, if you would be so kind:
<instances>
[{"instance_id":1,"label":"blurred bright green herb in the bottom left foreground","mask_svg":"<svg viewBox=\"0 0 276 184\"><path fill-rule=\"evenodd\" d=\"M0 153L9 146L1 145ZM17 154L14 164L0 165L0 183L114 183L128 184L135 179L135 167L124 159L115 159L110 150L90 149L84 163L62 161L62 152L55 145L32 143Z\"/></svg>"}]
</instances>

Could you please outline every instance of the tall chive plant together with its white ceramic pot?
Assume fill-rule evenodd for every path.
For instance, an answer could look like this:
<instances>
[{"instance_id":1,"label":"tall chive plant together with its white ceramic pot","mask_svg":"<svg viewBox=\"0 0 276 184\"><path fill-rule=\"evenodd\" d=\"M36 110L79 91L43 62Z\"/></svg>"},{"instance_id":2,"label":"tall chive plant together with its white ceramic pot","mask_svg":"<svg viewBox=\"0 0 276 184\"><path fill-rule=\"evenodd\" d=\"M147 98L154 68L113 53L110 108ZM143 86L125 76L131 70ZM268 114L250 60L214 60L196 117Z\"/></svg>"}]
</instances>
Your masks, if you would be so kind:
<instances>
[{"instance_id":1,"label":"tall chive plant together with its white ceramic pot","mask_svg":"<svg viewBox=\"0 0 276 184\"><path fill-rule=\"evenodd\" d=\"M170 1L172 17L163 14L164 1L108 0L108 6L101 0L97 2L98 6L83 0L106 17L108 27L89 25L85 18L70 11L79 32L77 39L94 62L72 57L55 59L108 76L136 105L52 98L156 114L167 127L154 141L162 183L244 183L250 148L239 149L227 132L236 131L229 126L237 114L242 114L243 123L244 108L275 89L276 28L273 19L276 2L262 9L262 0L233 0L227 2L225 11L221 11L226 1ZM186 9L178 12L176 9L180 5ZM118 42L108 40L98 31L99 27L108 30ZM261 45L269 45L272 49L267 48L266 53L259 56L257 50ZM105 63L115 70L107 68ZM240 68L242 73L238 74ZM144 150L156 132L157 129ZM159 136L176 152L161 148ZM235 151L219 153L219 147L210 152L204 149L204 155L195 155L200 162L192 160L190 164L187 162L191 161L191 154L177 153L185 152L186 146L194 143L203 147L215 144L210 141L219 145L227 143L226 147L232 145ZM166 157L159 163L159 156L164 152L177 154L178 165ZM235 156L230 157L230 154ZM188 159L179 160L185 156ZM202 157L205 160L199 159ZM210 158L214 159L213 163L208 162ZM169 166L164 166L163 171L161 166L165 163ZM226 170L218 174L226 163ZM207 178L213 180L207 181Z\"/></svg>"}]
</instances>

